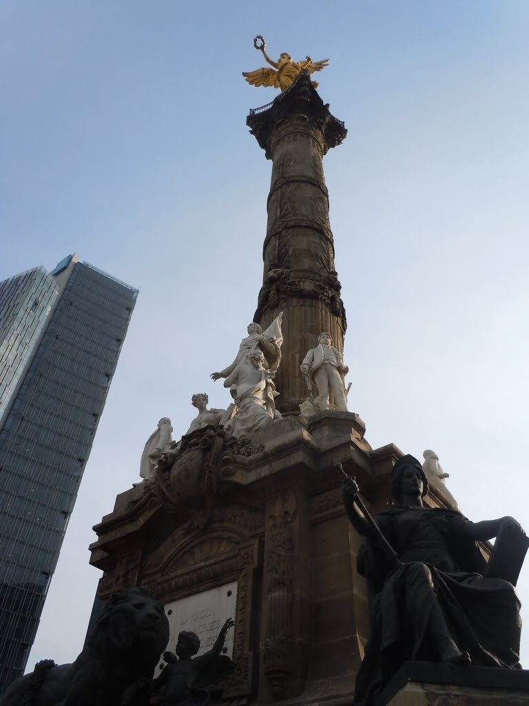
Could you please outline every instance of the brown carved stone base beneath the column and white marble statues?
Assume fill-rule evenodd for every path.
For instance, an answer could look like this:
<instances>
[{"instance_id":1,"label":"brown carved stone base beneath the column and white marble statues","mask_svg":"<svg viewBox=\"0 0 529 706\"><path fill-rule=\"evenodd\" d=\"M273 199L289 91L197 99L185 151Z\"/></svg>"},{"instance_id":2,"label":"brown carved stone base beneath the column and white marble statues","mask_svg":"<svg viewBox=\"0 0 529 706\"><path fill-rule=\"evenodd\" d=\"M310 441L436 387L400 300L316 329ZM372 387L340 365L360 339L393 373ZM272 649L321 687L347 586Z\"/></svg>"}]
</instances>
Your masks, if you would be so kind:
<instances>
[{"instance_id":1,"label":"brown carved stone base beneath the column and white marble statues","mask_svg":"<svg viewBox=\"0 0 529 706\"><path fill-rule=\"evenodd\" d=\"M121 493L95 527L99 595L142 585L185 616L186 605L204 604L200 592L236 591L236 674L224 700L351 699L367 597L334 463L373 489L365 502L378 510L401 452L372 451L360 417L347 412L322 412L308 426L290 417L272 431L260 446L219 427L195 431L156 479ZM190 620L209 635L229 617L212 606ZM189 629L174 618L174 633Z\"/></svg>"}]
</instances>

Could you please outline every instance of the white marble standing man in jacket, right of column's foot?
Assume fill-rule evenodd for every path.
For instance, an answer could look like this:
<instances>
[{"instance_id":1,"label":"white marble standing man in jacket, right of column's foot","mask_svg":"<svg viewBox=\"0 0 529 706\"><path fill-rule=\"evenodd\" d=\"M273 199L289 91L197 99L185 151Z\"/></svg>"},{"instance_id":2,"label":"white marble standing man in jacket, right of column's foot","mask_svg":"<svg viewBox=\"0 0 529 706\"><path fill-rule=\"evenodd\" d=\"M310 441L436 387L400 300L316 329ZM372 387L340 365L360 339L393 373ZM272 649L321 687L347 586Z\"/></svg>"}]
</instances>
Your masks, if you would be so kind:
<instances>
[{"instance_id":1,"label":"white marble standing man in jacket, right of column's foot","mask_svg":"<svg viewBox=\"0 0 529 706\"><path fill-rule=\"evenodd\" d=\"M347 412L343 377L349 369L343 365L341 353L331 343L330 333L320 333L318 345L307 353L300 370L303 375L309 376L310 381L317 387L318 395L314 404L320 412L325 409Z\"/></svg>"}]
</instances>

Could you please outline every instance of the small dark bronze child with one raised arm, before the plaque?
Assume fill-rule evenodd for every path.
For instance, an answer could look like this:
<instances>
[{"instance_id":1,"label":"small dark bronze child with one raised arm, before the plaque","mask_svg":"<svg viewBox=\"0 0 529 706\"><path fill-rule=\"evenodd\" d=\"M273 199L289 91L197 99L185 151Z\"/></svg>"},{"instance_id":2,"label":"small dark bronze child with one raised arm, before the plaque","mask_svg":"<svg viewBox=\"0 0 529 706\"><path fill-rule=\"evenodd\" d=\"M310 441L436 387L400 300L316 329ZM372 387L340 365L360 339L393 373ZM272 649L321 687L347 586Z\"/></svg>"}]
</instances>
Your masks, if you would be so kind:
<instances>
[{"instance_id":1,"label":"small dark bronze child with one raised arm, before the plaque","mask_svg":"<svg viewBox=\"0 0 529 706\"><path fill-rule=\"evenodd\" d=\"M183 630L178 635L175 652L164 652L167 665L154 680L154 692L162 692L161 706L205 706L209 692L205 687L224 681L235 668L230 657L221 654L229 628L235 625L232 618L221 627L219 636L211 650L193 659L200 650L200 639L196 633Z\"/></svg>"}]
</instances>

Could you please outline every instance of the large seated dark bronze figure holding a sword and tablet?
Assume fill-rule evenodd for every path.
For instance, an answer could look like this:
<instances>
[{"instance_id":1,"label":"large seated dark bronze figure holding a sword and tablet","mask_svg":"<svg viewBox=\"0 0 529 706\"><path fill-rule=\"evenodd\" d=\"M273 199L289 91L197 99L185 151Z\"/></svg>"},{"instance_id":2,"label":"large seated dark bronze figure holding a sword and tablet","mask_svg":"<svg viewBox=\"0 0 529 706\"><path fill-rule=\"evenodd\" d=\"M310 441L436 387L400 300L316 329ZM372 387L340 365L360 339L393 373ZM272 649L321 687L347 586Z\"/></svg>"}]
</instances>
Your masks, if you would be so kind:
<instances>
[{"instance_id":1,"label":"large seated dark bronze figure holding a sword and tablet","mask_svg":"<svg viewBox=\"0 0 529 706\"><path fill-rule=\"evenodd\" d=\"M525 533L513 517L470 522L453 510L427 508L427 489L420 462L402 457L391 475L394 505L372 518L355 480L343 478L349 520L365 537L358 572L367 578L372 610L355 706L370 704L406 661L520 667L513 583L528 548ZM487 566L476 542L492 537Z\"/></svg>"}]
</instances>

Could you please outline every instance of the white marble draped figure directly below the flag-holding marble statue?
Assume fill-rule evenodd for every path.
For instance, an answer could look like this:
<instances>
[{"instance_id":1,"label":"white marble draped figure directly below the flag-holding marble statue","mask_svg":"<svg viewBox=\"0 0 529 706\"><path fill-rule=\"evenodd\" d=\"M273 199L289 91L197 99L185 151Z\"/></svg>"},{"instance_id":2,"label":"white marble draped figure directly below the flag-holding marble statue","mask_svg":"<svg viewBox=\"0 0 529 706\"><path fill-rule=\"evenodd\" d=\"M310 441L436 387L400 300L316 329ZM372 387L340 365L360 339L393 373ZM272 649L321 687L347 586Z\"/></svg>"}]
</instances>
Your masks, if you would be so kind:
<instances>
[{"instance_id":1,"label":"white marble draped figure directly below the flag-holding marble statue","mask_svg":"<svg viewBox=\"0 0 529 706\"><path fill-rule=\"evenodd\" d=\"M259 348L251 350L246 361L235 366L224 381L234 391L237 412L224 425L233 436L251 436L263 431L274 419L281 419L274 405L274 373L265 370L265 356Z\"/></svg>"}]
</instances>

